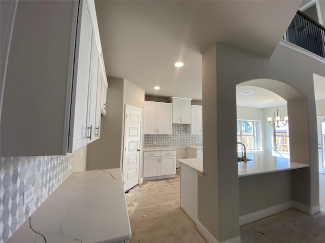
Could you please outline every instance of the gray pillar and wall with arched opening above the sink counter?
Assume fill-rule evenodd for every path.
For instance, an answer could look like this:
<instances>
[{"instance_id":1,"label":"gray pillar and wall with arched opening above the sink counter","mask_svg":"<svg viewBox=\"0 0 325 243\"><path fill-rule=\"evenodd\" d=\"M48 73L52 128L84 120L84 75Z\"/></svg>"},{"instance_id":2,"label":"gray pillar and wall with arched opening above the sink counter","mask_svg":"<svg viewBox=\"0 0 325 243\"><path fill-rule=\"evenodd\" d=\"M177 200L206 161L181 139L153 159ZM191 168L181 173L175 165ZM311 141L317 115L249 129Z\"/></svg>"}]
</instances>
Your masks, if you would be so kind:
<instances>
[{"instance_id":1,"label":"gray pillar and wall with arched opening above the sink counter","mask_svg":"<svg viewBox=\"0 0 325 243\"><path fill-rule=\"evenodd\" d=\"M289 110L289 102L291 107L302 105L305 109L299 110L304 117L291 120L289 124L306 130L305 142L290 139L290 148L291 154L305 151L305 163L310 165L301 172L306 178L305 187L301 187L303 198L297 196L295 199L307 207L319 204L318 151L317 146L313 146L317 143L313 73L325 76L324 64L281 45L270 59L223 44L214 45L203 54L203 166L206 175L198 180L198 219L217 240L239 235L238 168L236 163L233 165L229 161L237 157L236 85L248 80L254 80L249 85L266 88L285 98L289 116L298 116L294 114L296 110ZM262 81L264 78L269 80ZM303 97L305 100L301 103ZM291 183L293 186L299 184L298 177L293 176Z\"/></svg>"}]
</instances>

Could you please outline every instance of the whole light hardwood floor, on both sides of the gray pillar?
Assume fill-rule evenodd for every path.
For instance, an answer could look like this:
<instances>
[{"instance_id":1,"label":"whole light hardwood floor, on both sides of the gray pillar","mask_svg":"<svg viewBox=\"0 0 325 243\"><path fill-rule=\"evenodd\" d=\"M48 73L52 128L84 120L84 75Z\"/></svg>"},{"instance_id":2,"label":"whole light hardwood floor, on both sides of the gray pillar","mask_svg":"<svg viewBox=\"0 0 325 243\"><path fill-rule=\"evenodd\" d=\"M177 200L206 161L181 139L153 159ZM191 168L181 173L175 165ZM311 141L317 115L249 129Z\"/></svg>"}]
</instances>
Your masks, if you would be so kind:
<instances>
[{"instance_id":1,"label":"whole light hardwood floor, on both sides of the gray pillar","mask_svg":"<svg viewBox=\"0 0 325 243\"><path fill-rule=\"evenodd\" d=\"M320 175L322 212L310 216L286 210L240 227L242 243L324 243L325 175ZM207 242L179 207L179 174L173 179L148 181L125 194L132 238L130 243Z\"/></svg>"}]
</instances>

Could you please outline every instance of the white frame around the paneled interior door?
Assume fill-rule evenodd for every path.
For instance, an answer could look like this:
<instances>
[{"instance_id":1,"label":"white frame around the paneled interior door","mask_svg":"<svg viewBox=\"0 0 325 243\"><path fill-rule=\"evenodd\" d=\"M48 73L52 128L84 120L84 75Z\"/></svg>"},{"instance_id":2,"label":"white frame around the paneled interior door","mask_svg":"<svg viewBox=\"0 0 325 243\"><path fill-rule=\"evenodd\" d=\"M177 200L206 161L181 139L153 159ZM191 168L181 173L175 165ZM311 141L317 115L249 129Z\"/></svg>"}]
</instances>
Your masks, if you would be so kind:
<instances>
[{"instance_id":1,"label":"white frame around the paneled interior door","mask_svg":"<svg viewBox=\"0 0 325 243\"><path fill-rule=\"evenodd\" d=\"M124 106L124 121L123 121L123 126L124 126L124 129L123 129L123 147L122 147L122 150L123 150L123 156L122 156L122 165L121 165L121 172L122 172L122 180L124 180L124 159L125 159L125 136L126 136L126 109L127 108L131 108L131 109L135 109L135 110L139 110L140 113L141 113L141 123L140 123L140 156L139 156L139 165L138 165L138 171L139 171L139 178L138 178L138 184L141 184L143 182L143 175L142 173L140 173L140 169L142 168L142 140L143 140L143 134L142 134L142 126L143 126L143 109L139 108L139 107L136 107L136 106L132 106L132 105L128 105L128 104L125 104ZM123 185L124 187L124 185Z\"/></svg>"}]
</instances>

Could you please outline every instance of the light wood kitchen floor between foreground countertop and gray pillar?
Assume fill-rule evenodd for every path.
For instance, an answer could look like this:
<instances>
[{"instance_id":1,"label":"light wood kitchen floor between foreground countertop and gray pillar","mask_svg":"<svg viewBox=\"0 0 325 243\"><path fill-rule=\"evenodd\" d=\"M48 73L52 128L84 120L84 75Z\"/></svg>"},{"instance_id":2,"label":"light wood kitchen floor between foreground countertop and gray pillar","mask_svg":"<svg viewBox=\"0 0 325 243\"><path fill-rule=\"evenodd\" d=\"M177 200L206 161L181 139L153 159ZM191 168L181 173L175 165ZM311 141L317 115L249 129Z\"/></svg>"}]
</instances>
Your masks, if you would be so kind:
<instances>
[{"instance_id":1,"label":"light wood kitchen floor between foreground countertop and gray pillar","mask_svg":"<svg viewBox=\"0 0 325 243\"><path fill-rule=\"evenodd\" d=\"M207 242L179 207L179 173L173 179L147 181L125 197L132 230L130 243Z\"/></svg>"}]
</instances>

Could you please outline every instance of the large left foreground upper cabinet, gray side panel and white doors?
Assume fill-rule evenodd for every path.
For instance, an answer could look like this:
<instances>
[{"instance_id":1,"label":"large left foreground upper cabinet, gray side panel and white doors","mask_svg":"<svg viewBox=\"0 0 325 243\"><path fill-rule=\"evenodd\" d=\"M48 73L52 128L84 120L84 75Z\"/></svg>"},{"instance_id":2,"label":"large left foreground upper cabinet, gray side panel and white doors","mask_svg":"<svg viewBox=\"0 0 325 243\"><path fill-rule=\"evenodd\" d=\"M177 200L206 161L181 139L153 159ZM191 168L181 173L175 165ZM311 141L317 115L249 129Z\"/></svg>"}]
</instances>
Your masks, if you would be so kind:
<instances>
[{"instance_id":1,"label":"large left foreground upper cabinet, gray side panel and white doors","mask_svg":"<svg viewBox=\"0 0 325 243\"><path fill-rule=\"evenodd\" d=\"M18 1L1 156L65 155L99 137L101 52L94 1Z\"/></svg>"}]
</instances>

